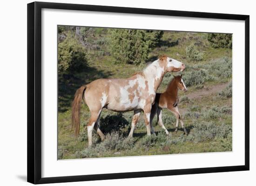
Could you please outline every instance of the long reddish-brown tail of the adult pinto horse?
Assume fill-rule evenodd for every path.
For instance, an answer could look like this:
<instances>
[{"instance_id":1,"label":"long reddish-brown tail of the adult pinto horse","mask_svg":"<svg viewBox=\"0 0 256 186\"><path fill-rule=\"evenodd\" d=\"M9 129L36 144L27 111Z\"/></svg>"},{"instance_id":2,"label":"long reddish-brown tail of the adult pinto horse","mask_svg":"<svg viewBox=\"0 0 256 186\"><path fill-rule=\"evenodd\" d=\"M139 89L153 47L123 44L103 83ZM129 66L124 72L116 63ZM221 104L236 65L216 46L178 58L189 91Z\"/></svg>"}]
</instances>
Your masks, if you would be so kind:
<instances>
[{"instance_id":1,"label":"long reddish-brown tail of the adult pinto horse","mask_svg":"<svg viewBox=\"0 0 256 186\"><path fill-rule=\"evenodd\" d=\"M86 89L86 85L83 85L76 90L74 94L74 100L72 103L72 129L74 128L75 136L78 136L79 134L80 115L81 115L80 109L81 109L82 97L84 95L85 89Z\"/></svg>"}]
</instances>

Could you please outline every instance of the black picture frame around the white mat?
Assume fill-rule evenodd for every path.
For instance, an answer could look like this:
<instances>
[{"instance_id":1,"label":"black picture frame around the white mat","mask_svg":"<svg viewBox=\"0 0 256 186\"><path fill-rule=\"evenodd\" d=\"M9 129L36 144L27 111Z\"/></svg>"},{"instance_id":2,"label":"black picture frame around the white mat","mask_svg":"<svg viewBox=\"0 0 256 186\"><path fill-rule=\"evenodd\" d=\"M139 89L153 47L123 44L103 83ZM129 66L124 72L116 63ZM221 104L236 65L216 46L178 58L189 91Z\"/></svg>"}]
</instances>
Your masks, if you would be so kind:
<instances>
[{"instance_id":1,"label":"black picture frame around the white mat","mask_svg":"<svg viewBox=\"0 0 256 186\"><path fill-rule=\"evenodd\" d=\"M41 10L42 8L111 13L133 13L245 21L245 164L230 167L189 168L132 173L107 173L63 177L41 177ZM216 173L249 170L249 15L94 6L49 2L27 4L27 181L33 184L110 180L123 178Z\"/></svg>"}]
</instances>

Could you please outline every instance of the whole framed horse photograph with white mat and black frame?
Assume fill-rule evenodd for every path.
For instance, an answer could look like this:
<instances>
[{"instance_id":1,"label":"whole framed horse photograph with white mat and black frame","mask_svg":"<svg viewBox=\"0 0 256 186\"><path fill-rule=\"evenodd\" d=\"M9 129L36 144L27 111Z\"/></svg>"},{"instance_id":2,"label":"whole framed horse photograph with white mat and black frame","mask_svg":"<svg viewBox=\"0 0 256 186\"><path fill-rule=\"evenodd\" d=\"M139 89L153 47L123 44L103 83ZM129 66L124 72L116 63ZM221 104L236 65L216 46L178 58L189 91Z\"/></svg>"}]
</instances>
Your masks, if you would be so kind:
<instances>
[{"instance_id":1,"label":"whole framed horse photograph with white mat and black frame","mask_svg":"<svg viewBox=\"0 0 256 186\"><path fill-rule=\"evenodd\" d=\"M249 170L249 15L27 5L27 181Z\"/></svg>"}]
</instances>

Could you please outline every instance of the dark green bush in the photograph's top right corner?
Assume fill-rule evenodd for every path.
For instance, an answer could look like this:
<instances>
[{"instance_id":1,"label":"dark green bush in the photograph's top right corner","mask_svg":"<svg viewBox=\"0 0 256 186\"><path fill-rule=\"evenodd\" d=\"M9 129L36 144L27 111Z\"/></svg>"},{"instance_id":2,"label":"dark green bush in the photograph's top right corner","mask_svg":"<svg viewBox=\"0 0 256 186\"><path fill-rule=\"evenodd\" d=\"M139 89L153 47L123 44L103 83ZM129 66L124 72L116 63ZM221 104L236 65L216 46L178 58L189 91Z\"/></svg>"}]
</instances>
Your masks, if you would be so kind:
<instances>
[{"instance_id":1,"label":"dark green bush in the photograph's top right corner","mask_svg":"<svg viewBox=\"0 0 256 186\"><path fill-rule=\"evenodd\" d=\"M208 41L213 48L230 48L230 49L232 49L232 34L209 33Z\"/></svg>"}]
</instances>

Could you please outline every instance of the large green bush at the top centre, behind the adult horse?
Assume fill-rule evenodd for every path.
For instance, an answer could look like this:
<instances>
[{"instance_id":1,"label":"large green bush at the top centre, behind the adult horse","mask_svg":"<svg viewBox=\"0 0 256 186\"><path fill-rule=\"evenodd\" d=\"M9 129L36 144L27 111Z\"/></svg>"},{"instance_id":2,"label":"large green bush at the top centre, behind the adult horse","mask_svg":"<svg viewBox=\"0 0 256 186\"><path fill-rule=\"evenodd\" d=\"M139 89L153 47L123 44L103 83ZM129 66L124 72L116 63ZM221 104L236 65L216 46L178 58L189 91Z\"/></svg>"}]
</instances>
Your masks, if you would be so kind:
<instances>
[{"instance_id":1,"label":"large green bush at the top centre, behind the adult horse","mask_svg":"<svg viewBox=\"0 0 256 186\"><path fill-rule=\"evenodd\" d=\"M159 43L163 31L112 29L110 34L110 49L115 59L122 63L140 64Z\"/></svg>"}]
</instances>

